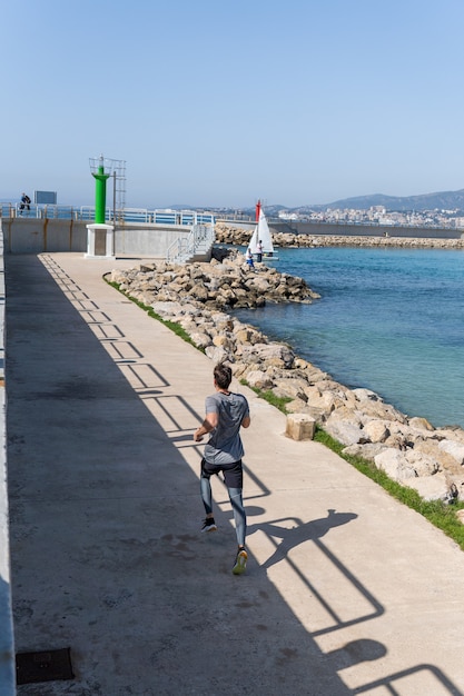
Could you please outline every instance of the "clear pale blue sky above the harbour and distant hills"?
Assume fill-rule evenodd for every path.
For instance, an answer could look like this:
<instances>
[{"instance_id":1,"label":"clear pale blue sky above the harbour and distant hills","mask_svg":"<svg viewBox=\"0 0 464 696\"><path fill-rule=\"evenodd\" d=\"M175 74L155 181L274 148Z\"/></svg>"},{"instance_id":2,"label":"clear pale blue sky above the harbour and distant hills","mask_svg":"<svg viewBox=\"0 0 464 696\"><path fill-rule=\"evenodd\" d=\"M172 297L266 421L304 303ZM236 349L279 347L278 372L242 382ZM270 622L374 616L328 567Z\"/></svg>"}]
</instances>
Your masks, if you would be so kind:
<instances>
[{"instance_id":1,"label":"clear pale blue sky above the harbour and distant hills","mask_svg":"<svg viewBox=\"0 0 464 696\"><path fill-rule=\"evenodd\" d=\"M462 0L7 0L0 198L326 203L464 188Z\"/></svg>"}]
</instances>

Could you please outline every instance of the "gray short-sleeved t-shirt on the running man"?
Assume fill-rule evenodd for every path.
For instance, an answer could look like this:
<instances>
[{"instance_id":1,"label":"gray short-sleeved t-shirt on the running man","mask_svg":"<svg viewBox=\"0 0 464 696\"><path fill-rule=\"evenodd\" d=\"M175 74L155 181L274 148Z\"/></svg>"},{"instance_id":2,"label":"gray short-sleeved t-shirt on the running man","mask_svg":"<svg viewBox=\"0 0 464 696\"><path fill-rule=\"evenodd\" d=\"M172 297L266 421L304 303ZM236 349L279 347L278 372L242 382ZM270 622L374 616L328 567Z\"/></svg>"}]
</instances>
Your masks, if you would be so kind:
<instances>
[{"instance_id":1,"label":"gray short-sleeved t-shirt on the running man","mask_svg":"<svg viewBox=\"0 0 464 696\"><path fill-rule=\"evenodd\" d=\"M240 425L249 416L248 401L241 394L216 391L206 398L206 412L217 414L219 421L205 446L208 464L231 464L244 456Z\"/></svg>"}]
</instances>

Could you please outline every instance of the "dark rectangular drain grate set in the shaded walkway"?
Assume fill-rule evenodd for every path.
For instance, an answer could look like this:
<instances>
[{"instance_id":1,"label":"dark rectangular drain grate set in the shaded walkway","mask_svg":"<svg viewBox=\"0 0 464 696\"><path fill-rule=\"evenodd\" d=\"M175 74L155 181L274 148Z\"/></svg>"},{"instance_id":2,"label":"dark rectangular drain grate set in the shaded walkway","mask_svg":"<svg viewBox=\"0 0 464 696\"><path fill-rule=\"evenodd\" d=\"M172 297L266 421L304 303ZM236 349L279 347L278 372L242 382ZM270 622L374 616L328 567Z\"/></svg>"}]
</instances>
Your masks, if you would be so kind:
<instances>
[{"instance_id":1,"label":"dark rectangular drain grate set in the shaded walkway","mask_svg":"<svg viewBox=\"0 0 464 696\"><path fill-rule=\"evenodd\" d=\"M37 684L57 679L73 679L70 648L18 653L16 656L17 684Z\"/></svg>"}]
</instances>

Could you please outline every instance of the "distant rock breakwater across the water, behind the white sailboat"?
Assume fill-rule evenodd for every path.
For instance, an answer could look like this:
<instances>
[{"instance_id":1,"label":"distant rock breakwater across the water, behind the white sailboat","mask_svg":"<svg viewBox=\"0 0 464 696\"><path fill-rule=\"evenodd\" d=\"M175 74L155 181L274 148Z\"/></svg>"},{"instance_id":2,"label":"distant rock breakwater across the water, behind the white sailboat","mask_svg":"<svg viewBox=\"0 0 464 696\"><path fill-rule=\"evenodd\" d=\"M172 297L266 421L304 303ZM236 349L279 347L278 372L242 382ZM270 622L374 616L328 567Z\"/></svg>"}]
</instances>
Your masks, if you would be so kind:
<instances>
[{"instance_id":1,"label":"distant rock breakwater across the water, behind the white sailboat","mask_svg":"<svg viewBox=\"0 0 464 696\"><path fill-rule=\"evenodd\" d=\"M217 243L247 246L250 231L218 222L215 228ZM433 231L433 230L432 230ZM413 231L412 231L413 233ZM411 249L464 249L464 239L435 239L433 237L395 237L392 228L389 237L367 237L363 235L294 235L274 232L273 243L294 249L307 247L404 247Z\"/></svg>"}]
</instances>

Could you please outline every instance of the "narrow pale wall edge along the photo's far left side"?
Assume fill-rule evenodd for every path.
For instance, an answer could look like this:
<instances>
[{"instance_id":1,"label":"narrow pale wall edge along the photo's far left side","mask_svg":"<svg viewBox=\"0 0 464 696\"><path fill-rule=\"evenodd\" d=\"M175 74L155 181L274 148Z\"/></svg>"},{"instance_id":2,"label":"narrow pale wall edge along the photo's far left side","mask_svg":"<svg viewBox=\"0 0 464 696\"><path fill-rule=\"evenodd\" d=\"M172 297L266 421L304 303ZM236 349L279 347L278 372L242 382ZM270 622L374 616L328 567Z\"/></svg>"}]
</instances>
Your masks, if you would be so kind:
<instances>
[{"instance_id":1,"label":"narrow pale wall edge along the photo's far left side","mask_svg":"<svg viewBox=\"0 0 464 696\"><path fill-rule=\"evenodd\" d=\"M14 696L16 666L11 609L7 488L7 398L4 391L4 265L0 220L0 696Z\"/></svg>"}]
</instances>

